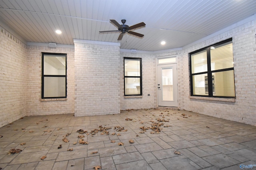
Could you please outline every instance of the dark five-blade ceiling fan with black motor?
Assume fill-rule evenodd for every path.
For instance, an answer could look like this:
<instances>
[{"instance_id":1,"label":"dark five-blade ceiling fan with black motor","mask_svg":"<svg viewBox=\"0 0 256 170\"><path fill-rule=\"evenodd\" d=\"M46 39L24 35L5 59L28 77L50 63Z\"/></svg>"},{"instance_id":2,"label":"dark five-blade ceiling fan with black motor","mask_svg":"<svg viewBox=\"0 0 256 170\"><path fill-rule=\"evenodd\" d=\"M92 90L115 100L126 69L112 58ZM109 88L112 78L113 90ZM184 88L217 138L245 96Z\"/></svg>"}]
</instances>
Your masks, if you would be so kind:
<instances>
[{"instance_id":1,"label":"dark five-blade ceiling fan with black motor","mask_svg":"<svg viewBox=\"0 0 256 170\"><path fill-rule=\"evenodd\" d=\"M110 21L111 21L112 23L114 23L114 25L116 25L116 26L118 27L118 30L100 31L100 33L121 32L117 40L121 40L122 37L124 36L124 34L125 34L126 32L129 33L129 34L138 36L138 37L143 37L143 36L144 36L143 34L130 31L130 30L132 30L132 29L145 26L146 24L145 24L144 22L137 23L137 24L132 25L132 26L129 27L128 25L125 25L126 20L121 20L122 23L123 23L122 25L120 25L116 20L110 20Z\"/></svg>"}]
</instances>

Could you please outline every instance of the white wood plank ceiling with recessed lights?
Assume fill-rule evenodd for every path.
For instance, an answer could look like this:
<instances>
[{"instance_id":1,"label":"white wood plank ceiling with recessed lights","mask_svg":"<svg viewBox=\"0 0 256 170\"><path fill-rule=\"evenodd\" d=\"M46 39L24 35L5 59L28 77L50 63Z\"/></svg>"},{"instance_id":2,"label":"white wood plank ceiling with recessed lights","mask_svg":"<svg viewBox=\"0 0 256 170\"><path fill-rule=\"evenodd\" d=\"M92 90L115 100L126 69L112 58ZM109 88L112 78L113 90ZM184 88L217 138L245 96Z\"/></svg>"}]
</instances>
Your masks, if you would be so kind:
<instances>
[{"instance_id":1,"label":"white wood plank ceiling with recessed lights","mask_svg":"<svg viewBox=\"0 0 256 170\"><path fill-rule=\"evenodd\" d=\"M255 13L256 0L0 0L0 21L27 42L73 45L73 39L86 39L142 51L183 47ZM146 23L133 30L144 37L126 33L118 41L119 32L99 33L117 30L111 19Z\"/></svg>"}]
</instances>

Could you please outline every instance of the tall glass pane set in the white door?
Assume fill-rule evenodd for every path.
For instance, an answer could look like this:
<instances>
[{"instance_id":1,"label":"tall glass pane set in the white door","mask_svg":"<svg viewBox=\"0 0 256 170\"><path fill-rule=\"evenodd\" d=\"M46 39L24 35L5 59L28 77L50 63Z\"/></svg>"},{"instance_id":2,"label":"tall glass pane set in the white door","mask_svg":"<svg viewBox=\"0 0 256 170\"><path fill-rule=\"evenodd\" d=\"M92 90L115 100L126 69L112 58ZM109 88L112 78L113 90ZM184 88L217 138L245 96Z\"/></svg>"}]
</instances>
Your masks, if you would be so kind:
<instances>
[{"instance_id":1,"label":"tall glass pane set in the white door","mask_svg":"<svg viewBox=\"0 0 256 170\"><path fill-rule=\"evenodd\" d=\"M172 67L162 68L162 100L173 101Z\"/></svg>"}]
</instances>

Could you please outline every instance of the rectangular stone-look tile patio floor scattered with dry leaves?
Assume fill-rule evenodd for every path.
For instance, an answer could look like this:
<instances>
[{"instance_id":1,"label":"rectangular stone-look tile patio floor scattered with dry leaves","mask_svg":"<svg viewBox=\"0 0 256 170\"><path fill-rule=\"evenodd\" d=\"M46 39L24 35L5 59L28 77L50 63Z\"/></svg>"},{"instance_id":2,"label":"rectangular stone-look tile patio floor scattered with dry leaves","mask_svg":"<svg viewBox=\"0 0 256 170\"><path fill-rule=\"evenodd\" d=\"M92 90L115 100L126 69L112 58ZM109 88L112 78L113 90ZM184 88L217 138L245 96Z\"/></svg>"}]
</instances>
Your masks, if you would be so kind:
<instances>
[{"instance_id":1,"label":"rectangular stone-look tile patio floor scattered with dry leaves","mask_svg":"<svg viewBox=\"0 0 256 170\"><path fill-rule=\"evenodd\" d=\"M80 129L88 133L77 133ZM98 131L93 133L94 129ZM67 134L66 143L63 136ZM256 169L256 126L183 110L29 116L0 128L0 135L4 170ZM78 135L84 135L80 139L88 144L78 143ZM22 151L8 154L10 149Z\"/></svg>"}]
</instances>

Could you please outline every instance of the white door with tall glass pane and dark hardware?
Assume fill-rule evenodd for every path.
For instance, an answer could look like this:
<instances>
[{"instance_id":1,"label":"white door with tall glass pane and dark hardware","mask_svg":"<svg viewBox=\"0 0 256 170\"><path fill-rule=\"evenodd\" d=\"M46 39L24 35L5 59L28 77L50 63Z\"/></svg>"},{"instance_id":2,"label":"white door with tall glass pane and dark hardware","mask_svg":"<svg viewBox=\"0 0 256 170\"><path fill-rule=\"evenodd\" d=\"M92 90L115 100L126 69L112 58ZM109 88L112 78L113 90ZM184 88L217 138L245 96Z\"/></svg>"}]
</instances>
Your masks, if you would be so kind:
<instances>
[{"instance_id":1,"label":"white door with tall glass pane and dark hardware","mask_svg":"<svg viewBox=\"0 0 256 170\"><path fill-rule=\"evenodd\" d=\"M177 64L157 66L158 106L178 107Z\"/></svg>"}]
</instances>

